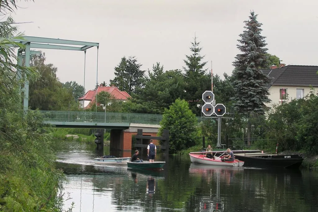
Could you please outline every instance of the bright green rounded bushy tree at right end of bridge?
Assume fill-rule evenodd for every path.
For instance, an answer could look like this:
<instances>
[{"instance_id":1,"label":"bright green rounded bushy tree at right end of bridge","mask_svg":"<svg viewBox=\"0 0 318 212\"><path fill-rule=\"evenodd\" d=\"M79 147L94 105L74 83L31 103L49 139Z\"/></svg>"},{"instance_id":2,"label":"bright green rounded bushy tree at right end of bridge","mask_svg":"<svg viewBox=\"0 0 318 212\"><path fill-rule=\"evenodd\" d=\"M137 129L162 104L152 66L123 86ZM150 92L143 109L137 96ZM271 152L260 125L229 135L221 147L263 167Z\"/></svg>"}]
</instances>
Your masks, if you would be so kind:
<instances>
[{"instance_id":1,"label":"bright green rounded bushy tree at right end of bridge","mask_svg":"<svg viewBox=\"0 0 318 212\"><path fill-rule=\"evenodd\" d=\"M169 109L164 110L158 134L161 135L164 129L169 130L169 153L196 145L196 122L196 116L185 100L176 99Z\"/></svg>"}]
</instances>

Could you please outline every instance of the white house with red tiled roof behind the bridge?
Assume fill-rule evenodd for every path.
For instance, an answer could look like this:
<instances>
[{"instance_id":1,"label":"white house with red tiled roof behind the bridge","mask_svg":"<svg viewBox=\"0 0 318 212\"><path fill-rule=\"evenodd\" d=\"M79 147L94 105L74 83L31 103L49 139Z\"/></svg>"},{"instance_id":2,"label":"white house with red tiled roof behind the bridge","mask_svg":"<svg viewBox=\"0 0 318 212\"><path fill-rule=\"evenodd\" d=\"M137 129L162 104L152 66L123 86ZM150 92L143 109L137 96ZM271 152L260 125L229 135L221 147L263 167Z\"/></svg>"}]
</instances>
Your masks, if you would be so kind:
<instances>
[{"instance_id":1,"label":"white house with red tiled roof behind the bridge","mask_svg":"<svg viewBox=\"0 0 318 212\"><path fill-rule=\"evenodd\" d=\"M131 98L131 96L126 91L120 91L117 87L114 85L112 86L103 86L103 84L100 84L95 90L89 90L85 93L84 96L80 97L79 103L81 108L89 108L91 104L95 104L95 98L96 98L96 92L97 94L105 91L110 93L110 95L120 101L127 101L128 98Z\"/></svg>"}]
</instances>

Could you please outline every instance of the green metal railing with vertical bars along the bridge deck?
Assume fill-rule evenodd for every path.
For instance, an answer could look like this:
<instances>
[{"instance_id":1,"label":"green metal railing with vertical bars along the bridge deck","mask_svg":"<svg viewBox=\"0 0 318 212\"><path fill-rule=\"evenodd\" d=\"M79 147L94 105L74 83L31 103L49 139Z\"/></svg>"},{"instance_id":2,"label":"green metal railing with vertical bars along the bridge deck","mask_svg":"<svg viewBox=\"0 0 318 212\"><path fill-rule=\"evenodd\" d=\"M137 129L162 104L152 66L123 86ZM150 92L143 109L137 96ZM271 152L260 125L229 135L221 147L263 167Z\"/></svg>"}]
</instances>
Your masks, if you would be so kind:
<instances>
[{"instance_id":1,"label":"green metal railing with vertical bars along the bridge deck","mask_svg":"<svg viewBox=\"0 0 318 212\"><path fill-rule=\"evenodd\" d=\"M159 125L162 115L141 113L103 113L89 111L40 111L46 121L59 122L104 122L104 123L133 123ZM197 117L197 125L211 120Z\"/></svg>"}]
</instances>

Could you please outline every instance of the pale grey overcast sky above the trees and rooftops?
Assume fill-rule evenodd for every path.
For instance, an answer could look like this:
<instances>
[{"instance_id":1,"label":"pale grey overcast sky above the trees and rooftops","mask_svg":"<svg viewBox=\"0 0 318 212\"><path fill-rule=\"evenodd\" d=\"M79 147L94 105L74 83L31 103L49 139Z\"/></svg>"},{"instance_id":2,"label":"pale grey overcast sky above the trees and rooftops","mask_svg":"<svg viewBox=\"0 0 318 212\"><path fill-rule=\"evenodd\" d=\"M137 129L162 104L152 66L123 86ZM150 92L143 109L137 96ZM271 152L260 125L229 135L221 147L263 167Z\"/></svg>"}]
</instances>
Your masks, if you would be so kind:
<instances>
[{"instance_id":1,"label":"pale grey overcast sky above the trees and rooftops","mask_svg":"<svg viewBox=\"0 0 318 212\"><path fill-rule=\"evenodd\" d=\"M88 3L90 2L90 3ZM34 0L12 14L26 36L96 42L98 82L114 78L123 56L136 56L142 69L160 62L182 69L196 34L213 73L231 74L244 21L254 10L263 24L268 52L287 65L318 65L316 0ZM84 84L84 52L43 50L61 82ZM86 53L86 91L96 83L96 47Z\"/></svg>"}]
</instances>

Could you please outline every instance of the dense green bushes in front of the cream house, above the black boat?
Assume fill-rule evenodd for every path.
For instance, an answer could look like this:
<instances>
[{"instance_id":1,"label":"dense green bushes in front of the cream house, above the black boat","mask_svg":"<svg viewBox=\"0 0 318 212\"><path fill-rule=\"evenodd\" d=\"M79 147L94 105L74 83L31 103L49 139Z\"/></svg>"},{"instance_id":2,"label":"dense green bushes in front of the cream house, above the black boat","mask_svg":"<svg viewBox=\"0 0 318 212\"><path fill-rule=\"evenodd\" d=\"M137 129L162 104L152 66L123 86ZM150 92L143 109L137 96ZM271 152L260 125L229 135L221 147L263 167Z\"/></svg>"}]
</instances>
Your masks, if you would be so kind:
<instances>
[{"instance_id":1,"label":"dense green bushes in front of the cream house, above the black boat","mask_svg":"<svg viewBox=\"0 0 318 212\"><path fill-rule=\"evenodd\" d=\"M318 154L318 96L312 89L304 99L276 105L268 116L268 136L280 150Z\"/></svg>"}]
</instances>

